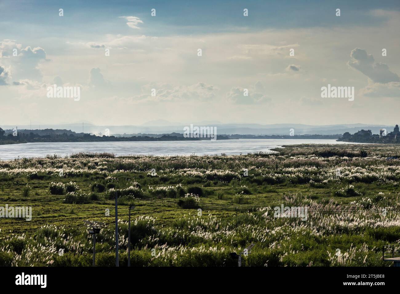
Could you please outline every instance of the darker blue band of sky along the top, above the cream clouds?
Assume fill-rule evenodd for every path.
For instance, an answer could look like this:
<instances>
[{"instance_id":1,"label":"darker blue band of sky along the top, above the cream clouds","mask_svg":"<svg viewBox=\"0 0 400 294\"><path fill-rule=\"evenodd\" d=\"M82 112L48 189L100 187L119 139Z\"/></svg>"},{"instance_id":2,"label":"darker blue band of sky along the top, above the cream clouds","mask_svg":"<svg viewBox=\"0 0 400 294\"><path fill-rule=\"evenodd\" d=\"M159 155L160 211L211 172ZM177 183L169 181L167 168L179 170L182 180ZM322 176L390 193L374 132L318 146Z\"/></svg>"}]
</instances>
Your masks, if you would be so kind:
<instances>
[{"instance_id":1,"label":"darker blue band of sky along the top, above the cream clouds","mask_svg":"<svg viewBox=\"0 0 400 294\"><path fill-rule=\"evenodd\" d=\"M30 32L40 29L54 35L71 30L109 34L120 33L113 18L120 15L135 15L148 21L149 11L156 8L157 18L150 27L143 28L146 34L193 34L227 32L236 28L260 30L265 28L307 28L349 25L379 24L384 17L368 15L370 10L399 11L399 1L2 1L0 19L9 33L23 36L19 25ZM343 11L340 21L332 10ZM65 22L59 22L57 14L50 11L63 8ZM249 18L242 17L242 9L248 8ZM18 26L15 24L18 23ZM68 25L66 25L68 23ZM33 24L33 25L32 25ZM22 34L22 35L19 35Z\"/></svg>"}]
</instances>

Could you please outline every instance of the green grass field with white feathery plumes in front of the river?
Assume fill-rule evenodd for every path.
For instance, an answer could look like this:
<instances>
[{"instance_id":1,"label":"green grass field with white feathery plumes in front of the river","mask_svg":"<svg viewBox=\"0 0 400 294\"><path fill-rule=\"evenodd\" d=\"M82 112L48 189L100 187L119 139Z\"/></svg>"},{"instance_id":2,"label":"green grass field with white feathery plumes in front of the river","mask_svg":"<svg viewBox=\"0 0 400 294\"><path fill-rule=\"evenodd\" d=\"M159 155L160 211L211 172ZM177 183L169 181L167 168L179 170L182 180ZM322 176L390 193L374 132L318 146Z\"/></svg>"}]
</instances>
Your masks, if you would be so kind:
<instances>
[{"instance_id":1,"label":"green grass field with white feathery plumes in front of the river","mask_svg":"<svg viewBox=\"0 0 400 294\"><path fill-rule=\"evenodd\" d=\"M0 206L32 206L30 221L0 218L0 266L91 266L83 220L107 224L96 264L114 266L115 192L121 266L129 204L133 266L236 266L230 252L250 243L242 266L390 266L382 246L400 242L400 212L382 209L400 208L396 156L394 145L298 145L240 156L0 161ZM282 204L308 207L307 220L276 217L270 209Z\"/></svg>"}]
</instances>

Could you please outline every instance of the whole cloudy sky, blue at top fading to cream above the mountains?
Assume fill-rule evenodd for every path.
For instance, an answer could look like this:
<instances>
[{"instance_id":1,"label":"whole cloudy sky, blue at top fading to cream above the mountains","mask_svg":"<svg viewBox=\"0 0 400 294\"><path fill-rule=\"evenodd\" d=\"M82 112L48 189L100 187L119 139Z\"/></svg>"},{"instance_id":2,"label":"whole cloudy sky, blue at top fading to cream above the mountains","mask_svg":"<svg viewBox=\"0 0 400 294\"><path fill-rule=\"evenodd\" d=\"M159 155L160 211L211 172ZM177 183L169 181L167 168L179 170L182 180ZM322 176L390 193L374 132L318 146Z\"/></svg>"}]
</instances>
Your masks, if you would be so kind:
<instances>
[{"instance_id":1,"label":"whole cloudy sky, blue at top fading to cream above the mountains","mask_svg":"<svg viewBox=\"0 0 400 294\"><path fill-rule=\"evenodd\" d=\"M394 125L399 27L399 0L0 0L0 126Z\"/></svg>"}]
</instances>

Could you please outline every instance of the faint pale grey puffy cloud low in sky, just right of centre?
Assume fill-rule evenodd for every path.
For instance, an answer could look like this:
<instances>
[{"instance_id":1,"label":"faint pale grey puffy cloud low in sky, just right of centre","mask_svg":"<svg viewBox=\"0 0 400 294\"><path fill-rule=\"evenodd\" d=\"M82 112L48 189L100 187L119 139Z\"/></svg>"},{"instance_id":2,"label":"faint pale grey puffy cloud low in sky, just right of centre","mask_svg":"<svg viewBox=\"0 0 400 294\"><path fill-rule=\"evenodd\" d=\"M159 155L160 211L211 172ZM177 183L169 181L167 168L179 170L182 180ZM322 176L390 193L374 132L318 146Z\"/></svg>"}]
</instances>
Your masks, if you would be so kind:
<instances>
[{"instance_id":1,"label":"faint pale grey puffy cloud low in sky, just right of centre","mask_svg":"<svg viewBox=\"0 0 400 294\"><path fill-rule=\"evenodd\" d=\"M237 104L257 104L271 102L271 98L265 93L264 85L258 81L254 86L248 88L248 96L244 96L244 88L232 87L228 93L226 93L226 98L229 102Z\"/></svg>"}]
</instances>

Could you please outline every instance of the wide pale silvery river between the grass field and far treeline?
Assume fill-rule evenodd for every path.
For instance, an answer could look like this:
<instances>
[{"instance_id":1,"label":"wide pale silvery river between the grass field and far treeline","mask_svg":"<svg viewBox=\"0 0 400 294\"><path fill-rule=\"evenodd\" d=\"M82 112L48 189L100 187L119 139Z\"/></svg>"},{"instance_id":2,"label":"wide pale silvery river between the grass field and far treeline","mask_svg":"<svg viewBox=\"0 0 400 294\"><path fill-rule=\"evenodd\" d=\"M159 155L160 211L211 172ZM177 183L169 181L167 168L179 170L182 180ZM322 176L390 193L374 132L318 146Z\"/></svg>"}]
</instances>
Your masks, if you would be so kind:
<instances>
[{"instance_id":1,"label":"wide pale silvery river between the grass field and far treeline","mask_svg":"<svg viewBox=\"0 0 400 294\"><path fill-rule=\"evenodd\" d=\"M354 144L336 140L304 139L239 139L201 141L136 141L136 142L60 142L0 145L0 160L18 157L43 157L48 154L67 156L78 152L110 152L116 155L204 155L271 152L270 149L294 144Z\"/></svg>"}]
</instances>

